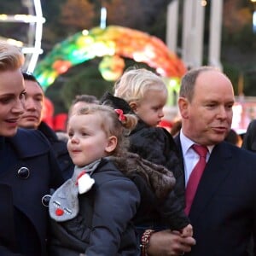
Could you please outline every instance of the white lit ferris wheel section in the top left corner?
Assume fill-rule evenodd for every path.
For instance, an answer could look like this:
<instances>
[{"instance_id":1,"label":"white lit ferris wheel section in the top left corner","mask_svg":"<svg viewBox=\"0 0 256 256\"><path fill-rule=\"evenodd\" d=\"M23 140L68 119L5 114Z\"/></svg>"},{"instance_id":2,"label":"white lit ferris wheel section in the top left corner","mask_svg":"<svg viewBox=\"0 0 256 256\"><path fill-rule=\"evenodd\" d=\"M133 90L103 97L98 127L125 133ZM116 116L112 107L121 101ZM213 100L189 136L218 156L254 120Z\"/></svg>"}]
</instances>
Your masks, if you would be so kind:
<instances>
[{"instance_id":1,"label":"white lit ferris wheel section in the top left corner","mask_svg":"<svg viewBox=\"0 0 256 256\"><path fill-rule=\"evenodd\" d=\"M40 0L21 0L21 4L27 8L28 12L26 15L0 14L0 22L16 22L28 24L26 42L22 42L13 38L0 38L7 41L9 44L15 44L16 46L20 47L26 56L24 68L28 72L32 73L37 65L38 56L43 53L43 49L41 49L41 39L45 19L43 17Z\"/></svg>"}]
</instances>

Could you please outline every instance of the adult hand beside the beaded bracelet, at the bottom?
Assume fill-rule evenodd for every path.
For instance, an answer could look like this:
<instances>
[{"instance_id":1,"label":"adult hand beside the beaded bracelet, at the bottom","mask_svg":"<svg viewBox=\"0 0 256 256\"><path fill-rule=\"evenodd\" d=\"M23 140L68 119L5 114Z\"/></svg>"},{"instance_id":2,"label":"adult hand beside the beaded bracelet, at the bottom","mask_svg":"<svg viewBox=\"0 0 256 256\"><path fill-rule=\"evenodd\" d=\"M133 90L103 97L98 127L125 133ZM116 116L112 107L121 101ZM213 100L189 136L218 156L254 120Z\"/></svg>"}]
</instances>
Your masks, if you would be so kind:
<instances>
[{"instance_id":1,"label":"adult hand beside the beaded bracelet, at the bottom","mask_svg":"<svg viewBox=\"0 0 256 256\"><path fill-rule=\"evenodd\" d=\"M162 230L150 237L147 253L149 256L178 256L189 253L194 245L195 239L191 236L182 237L177 231Z\"/></svg>"}]
</instances>

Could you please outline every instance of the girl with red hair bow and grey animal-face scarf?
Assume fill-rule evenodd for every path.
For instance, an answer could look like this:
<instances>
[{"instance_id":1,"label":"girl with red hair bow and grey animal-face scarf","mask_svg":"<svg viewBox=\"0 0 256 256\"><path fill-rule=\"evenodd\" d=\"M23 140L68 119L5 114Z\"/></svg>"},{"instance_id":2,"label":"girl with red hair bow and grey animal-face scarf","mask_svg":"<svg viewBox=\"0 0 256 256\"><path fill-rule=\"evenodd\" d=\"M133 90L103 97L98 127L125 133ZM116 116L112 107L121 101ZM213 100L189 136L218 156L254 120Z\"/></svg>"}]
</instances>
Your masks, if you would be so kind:
<instances>
[{"instance_id":1,"label":"girl with red hair bow and grey animal-face scarf","mask_svg":"<svg viewBox=\"0 0 256 256\"><path fill-rule=\"evenodd\" d=\"M132 225L143 200L136 184L163 199L175 179L172 172L127 152L125 134L136 124L134 115L102 105L70 117L67 148L75 169L49 202L50 255L140 255Z\"/></svg>"}]
</instances>

